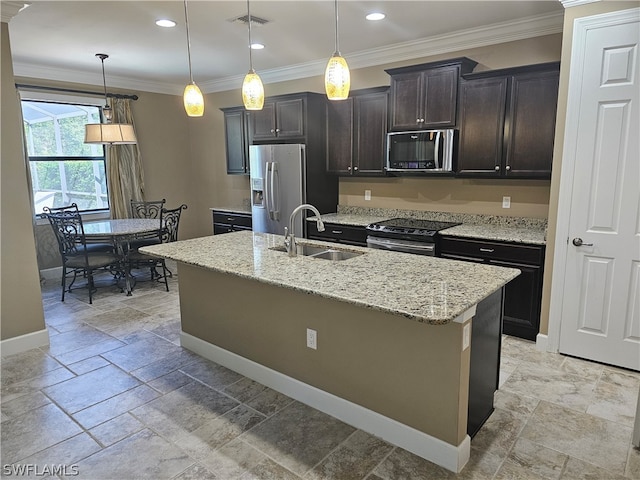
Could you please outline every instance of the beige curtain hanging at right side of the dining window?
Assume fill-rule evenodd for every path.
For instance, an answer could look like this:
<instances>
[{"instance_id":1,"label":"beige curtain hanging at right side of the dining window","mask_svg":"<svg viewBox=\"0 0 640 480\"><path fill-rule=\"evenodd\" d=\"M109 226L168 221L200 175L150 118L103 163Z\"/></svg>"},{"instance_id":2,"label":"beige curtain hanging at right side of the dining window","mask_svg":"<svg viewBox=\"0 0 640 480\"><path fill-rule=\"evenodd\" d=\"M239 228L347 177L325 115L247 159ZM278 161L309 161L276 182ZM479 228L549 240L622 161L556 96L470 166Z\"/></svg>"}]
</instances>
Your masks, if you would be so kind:
<instances>
[{"instance_id":1,"label":"beige curtain hanging at right side of the dining window","mask_svg":"<svg viewBox=\"0 0 640 480\"><path fill-rule=\"evenodd\" d=\"M133 125L131 100L110 98L113 123ZM138 145L107 146L107 183L111 218L129 217L130 201L144 200L144 173Z\"/></svg>"}]
</instances>

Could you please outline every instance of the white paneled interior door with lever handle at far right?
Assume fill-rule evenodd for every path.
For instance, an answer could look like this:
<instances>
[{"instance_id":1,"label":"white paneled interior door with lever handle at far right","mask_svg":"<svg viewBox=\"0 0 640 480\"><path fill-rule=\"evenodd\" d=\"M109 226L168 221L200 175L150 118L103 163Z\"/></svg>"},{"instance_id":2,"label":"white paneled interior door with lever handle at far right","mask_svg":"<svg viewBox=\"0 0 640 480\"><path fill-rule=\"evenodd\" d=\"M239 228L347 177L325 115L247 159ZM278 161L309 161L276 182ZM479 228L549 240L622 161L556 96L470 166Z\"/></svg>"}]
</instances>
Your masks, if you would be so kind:
<instances>
[{"instance_id":1,"label":"white paneled interior door with lever handle at far right","mask_svg":"<svg viewBox=\"0 0 640 480\"><path fill-rule=\"evenodd\" d=\"M640 370L640 23L625 12L575 25L553 284L561 353Z\"/></svg>"}]
</instances>

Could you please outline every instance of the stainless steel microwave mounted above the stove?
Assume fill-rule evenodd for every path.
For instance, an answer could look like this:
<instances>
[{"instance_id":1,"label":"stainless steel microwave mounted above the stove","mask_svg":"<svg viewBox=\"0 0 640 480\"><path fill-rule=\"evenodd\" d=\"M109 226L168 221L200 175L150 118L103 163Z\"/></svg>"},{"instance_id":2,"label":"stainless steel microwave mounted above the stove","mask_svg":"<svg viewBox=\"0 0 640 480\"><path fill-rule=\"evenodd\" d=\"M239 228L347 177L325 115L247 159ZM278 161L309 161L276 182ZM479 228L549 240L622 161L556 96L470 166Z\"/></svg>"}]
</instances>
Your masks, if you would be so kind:
<instances>
[{"instance_id":1,"label":"stainless steel microwave mounted above the stove","mask_svg":"<svg viewBox=\"0 0 640 480\"><path fill-rule=\"evenodd\" d=\"M387 134L388 172L453 172L455 130Z\"/></svg>"}]
</instances>

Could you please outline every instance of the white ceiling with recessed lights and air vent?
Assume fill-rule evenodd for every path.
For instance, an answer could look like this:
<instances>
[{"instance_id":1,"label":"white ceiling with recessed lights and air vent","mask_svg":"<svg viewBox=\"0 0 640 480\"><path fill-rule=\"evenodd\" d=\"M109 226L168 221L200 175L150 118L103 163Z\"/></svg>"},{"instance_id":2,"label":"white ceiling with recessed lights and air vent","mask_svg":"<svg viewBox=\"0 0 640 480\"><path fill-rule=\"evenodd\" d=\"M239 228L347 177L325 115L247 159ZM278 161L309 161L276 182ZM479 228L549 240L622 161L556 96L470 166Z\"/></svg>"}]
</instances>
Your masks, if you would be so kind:
<instances>
[{"instance_id":1,"label":"white ceiling with recessed lights and air vent","mask_svg":"<svg viewBox=\"0 0 640 480\"><path fill-rule=\"evenodd\" d=\"M181 94L189 80L182 1L28 0L9 22L18 77ZM16 2L5 2L3 4ZM253 0L253 65L264 83L322 75L335 49L334 2ZM236 88L249 69L244 0L187 3L193 76L203 92ZM386 19L365 20L371 11ZM341 0L340 51L351 69L558 33L558 0ZM174 28L155 25L159 18Z\"/></svg>"}]
</instances>

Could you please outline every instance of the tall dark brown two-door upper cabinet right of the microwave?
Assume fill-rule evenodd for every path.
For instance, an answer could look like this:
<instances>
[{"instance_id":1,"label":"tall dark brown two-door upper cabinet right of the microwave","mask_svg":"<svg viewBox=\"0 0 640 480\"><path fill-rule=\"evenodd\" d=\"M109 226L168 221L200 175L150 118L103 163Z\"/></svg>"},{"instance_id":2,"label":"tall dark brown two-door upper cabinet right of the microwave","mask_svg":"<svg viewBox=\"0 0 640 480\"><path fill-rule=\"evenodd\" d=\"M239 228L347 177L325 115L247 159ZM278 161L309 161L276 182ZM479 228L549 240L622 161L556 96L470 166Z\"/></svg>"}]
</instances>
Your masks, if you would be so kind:
<instances>
[{"instance_id":1,"label":"tall dark brown two-door upper cabinet right of the microwave","mask_svg":"<svg viewBox=\"0 0 640 480\"><path fill-rule=\"evenodd\" d=\"M550 178L559 74L552 62L465 75L457 175Z\"/></svg>"}]
</instances>

